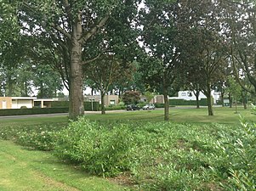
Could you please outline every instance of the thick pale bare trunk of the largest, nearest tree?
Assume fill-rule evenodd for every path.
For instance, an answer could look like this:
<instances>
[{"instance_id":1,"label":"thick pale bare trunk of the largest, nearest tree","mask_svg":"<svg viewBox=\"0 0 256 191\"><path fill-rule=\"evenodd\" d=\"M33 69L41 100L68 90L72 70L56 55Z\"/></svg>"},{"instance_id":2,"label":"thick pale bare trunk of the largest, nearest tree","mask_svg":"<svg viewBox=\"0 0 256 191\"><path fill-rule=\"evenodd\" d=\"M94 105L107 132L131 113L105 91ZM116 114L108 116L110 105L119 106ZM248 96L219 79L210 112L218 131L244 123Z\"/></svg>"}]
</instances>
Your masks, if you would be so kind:
<instances>
[{"instance_id":1,"label":"thick pale bare trunk of the largest, nearest tree","mask_svg":"<svg viewBox=\"0 0 256 191\"><path fill-rule=\"evenodd\" d=\"M70 84L70 109L69 117L73 120L77 116L84 115L82 95L82 44L79 39L82 37L81 21L73 25L72 48L71 48L71 84Z\"/></svg>"}]
</instances>

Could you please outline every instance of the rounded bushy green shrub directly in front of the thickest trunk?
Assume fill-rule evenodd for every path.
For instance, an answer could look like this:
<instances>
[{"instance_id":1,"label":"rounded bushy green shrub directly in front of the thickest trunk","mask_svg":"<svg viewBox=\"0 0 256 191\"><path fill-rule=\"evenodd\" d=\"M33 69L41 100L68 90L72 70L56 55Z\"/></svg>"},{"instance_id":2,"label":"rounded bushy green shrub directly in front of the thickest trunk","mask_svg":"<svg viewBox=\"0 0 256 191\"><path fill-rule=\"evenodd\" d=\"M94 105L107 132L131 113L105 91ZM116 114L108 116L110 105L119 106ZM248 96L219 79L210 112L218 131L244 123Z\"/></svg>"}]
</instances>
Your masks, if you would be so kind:
<instances>
[{"instance_id":1,"label":"rounded bushy green shrub directly in front of the thickest trunk","mask_svg":"<svg viewBox=\"0 0 256 191\"><path fill-rule=\"evenodd\" d=\"M89 173L114 176L128 170L132 140L127 126L105 128L79 118L58 133L55 153Z\"/></svg>"}]
</instances>

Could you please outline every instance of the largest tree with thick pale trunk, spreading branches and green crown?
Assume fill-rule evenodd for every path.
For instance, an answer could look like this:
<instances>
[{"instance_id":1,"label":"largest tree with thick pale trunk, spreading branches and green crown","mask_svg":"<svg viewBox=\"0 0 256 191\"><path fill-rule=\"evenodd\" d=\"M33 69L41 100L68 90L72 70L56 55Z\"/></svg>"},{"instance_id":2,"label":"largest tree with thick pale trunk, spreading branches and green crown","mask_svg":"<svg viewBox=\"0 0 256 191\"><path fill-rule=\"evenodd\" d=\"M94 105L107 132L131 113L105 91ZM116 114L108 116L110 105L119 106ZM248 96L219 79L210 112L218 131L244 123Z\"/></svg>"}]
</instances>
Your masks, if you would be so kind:
<instances>
[{"instance_id":1,"label":"largest tree with thick pale trunk, spreading branches and green crown","mask_svg":"<svg viewBox=\"0 0 256 191\"><path fill-rule=\"evenodd\" d=\"M85 53L88 45L95 39L99 40L94 37L105 30L105 25L114 19L112 15L126 15L126 20L132 22L137 4L130 0L26 0L18 5L22 35L37 39L42 48L53 53L55 68L60 70L63 78L66 77L70 92L70 118L83 115L82 65L87 65L99 55L97 49L90 55Z\"/></svg>"}]
</instances>

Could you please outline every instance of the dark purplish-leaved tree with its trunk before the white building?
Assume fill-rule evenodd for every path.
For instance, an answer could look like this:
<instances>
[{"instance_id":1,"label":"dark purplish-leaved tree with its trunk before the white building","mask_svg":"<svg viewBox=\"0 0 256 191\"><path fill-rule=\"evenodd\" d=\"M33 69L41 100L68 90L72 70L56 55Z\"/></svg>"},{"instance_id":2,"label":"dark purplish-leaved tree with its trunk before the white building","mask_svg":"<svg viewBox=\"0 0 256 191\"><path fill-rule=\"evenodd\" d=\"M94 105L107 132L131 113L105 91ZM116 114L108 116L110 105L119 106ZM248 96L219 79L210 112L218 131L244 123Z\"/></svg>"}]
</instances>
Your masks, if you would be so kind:
<instances>
[{"instance_id":1,"label":"dark purplish-leaved tree with its trunk before the white building","mask_svg":"<svg viewBox=\"0 0 256 191\"><path fill-rule=\"evenodd\" d=\"M179 48L186 65L196 69L203 81L202 92L208 98L208 115L213 115L211 92L227 62L220 36L219 7L213 1L181 1L178 13Z\"/></svg>"}]
</instances>

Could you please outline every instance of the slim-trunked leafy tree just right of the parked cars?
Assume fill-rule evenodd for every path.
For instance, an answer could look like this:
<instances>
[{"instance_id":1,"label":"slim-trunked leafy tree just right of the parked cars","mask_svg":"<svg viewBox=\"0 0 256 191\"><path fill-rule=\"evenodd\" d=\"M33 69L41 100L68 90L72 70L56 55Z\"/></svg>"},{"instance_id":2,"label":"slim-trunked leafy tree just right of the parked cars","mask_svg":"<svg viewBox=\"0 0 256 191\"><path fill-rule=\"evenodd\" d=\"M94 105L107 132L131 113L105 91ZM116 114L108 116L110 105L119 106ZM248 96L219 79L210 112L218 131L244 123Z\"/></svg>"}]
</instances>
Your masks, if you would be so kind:
<instances>
[{"instance_id":1,"label":"slim-trunked leafy tree just right of the parked cars","mask_svg":"<svg viewBox=\"0 0 256 191\"><path fill-rule=\"evenodd\" d=\"M145 83L153 89L162 89L165 121L169 120L168 93L179 65L174 7L174 1L145 1L145 9L140 11L141 42L146 54L140 61L140 70Z\"/></svg>"}]
</instances>

